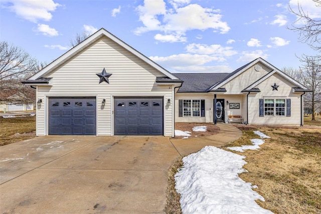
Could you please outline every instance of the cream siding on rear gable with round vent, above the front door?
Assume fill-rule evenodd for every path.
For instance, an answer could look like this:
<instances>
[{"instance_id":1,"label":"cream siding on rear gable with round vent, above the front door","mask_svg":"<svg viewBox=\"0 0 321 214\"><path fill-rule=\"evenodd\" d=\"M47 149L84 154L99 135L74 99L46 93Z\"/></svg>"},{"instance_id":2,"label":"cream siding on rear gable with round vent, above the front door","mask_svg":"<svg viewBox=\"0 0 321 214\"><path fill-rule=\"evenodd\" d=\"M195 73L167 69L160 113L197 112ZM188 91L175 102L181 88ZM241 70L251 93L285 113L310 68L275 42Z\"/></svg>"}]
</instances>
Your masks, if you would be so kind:
<instances>
[{"instance_id":1,"label":"cream siding on rear gable with round vent, above the front door","mask_svg":"<svg viewBox=\"0 0 321 214\"><path fill-rule=\"evenodd\" d=\"M226 88L227 90L225 94L241 94L241 91L243 89L250 86L253 82L256 82L258 79L262 78L271 71L271 69L266 67L265 65L261 63L257 64L260 64L262 66L261 71L256 71L254 69L255 65L253 65L248 70L244 71L236 78L223 85L222 87Z\"/></svg>"}]
</instances>

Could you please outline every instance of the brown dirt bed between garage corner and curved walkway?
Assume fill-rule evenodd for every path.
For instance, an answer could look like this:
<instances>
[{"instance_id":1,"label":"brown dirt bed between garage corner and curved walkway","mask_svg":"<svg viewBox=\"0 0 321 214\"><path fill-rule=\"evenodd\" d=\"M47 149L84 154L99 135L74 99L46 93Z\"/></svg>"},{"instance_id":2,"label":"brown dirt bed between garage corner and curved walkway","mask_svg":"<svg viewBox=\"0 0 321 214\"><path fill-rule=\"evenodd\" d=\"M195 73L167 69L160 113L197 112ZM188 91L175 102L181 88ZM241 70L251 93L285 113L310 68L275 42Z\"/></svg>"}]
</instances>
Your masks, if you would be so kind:
<instances>
[{"instance_id":1,"label":"brown dirt bed between garage corner and curved walkway","mask_svg":"<svg viewBox=\"0 0 321 214\"><path fill-rule=\"evenodd\" d=\"M196 126L206 126L206 132L194 132L192 131L193 127ZM220 131L220 128L212 123L175 123L175 130L181 130L183 132L189 131L191 137L189 138L196 138L196 137L206 137L210 135L217 135ZM175 138L183 138L184 136L176 136Z\"/></svg>"}]
</instances>

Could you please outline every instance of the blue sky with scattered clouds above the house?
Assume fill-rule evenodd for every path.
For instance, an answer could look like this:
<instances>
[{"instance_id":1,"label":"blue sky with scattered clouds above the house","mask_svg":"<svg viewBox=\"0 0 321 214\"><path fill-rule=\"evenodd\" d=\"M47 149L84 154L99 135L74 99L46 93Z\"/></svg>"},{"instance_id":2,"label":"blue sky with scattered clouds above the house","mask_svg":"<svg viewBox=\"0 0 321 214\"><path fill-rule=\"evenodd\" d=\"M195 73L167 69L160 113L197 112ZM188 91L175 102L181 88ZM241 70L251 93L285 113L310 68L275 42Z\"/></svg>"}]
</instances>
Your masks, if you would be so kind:
<instances>
[{"instance_id":1,"label":"blue sky with scattered clouds above the house","mask_svg":"<svg viewBox=\"0 0 321 214\"><path fill-rule=\"evenodd\" d=\"M288 30L297 17L290 1L55 1L1 0L0 40L52 62L76 34L100 28L171 72L231 72L262 57L298 68L295 56L316 55ZM312 18L321 8L299 0Z\"/></svg>"}]
</instances>

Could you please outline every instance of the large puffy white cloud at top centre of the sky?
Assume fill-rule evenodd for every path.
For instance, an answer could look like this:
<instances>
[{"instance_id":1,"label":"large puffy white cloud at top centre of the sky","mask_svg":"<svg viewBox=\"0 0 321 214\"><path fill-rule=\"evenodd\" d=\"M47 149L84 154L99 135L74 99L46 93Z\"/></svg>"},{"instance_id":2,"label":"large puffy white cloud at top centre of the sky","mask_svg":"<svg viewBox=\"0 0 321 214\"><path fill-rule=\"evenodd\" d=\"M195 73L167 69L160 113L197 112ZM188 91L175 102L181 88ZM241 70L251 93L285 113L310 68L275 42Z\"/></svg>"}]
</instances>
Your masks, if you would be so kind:
<instances>
[{"instance_id":1,"label":"large puffy white cloud at top centre of the sky","mask_svg":"<svg viewBox=\"0 0 321 214\"><path fill-rule=\"evenodd\" d=\"M136 28L134 33L140 35L148 31L161 31L165 35L185 35L190 30L213 29L224 34L230 30L228 24L221 21L220 10L203 8L197 4L185 6L189 2L170 1L174 7L167 9L163 0L145 0L143 6L137 7L143 26Z\"/></svg>"}]
</instances>

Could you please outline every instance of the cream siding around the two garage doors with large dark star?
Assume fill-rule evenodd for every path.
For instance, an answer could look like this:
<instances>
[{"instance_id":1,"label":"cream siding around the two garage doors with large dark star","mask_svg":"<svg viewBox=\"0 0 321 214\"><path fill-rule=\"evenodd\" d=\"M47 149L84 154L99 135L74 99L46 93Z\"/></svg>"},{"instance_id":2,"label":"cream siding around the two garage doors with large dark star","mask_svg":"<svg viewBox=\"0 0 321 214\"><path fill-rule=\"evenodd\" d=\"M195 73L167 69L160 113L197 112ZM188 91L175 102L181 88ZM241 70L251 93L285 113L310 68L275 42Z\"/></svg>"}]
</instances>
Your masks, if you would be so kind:
<instances>
[{"instance_id":1,"label":"cream siding around the two garage doors with large dark star","mask_svg":"<svg viewBox=\"0 0 321 214\"><path fill-rule=\"evenodd\" d=\"M103 68L109 77L109 84L99 83L96 73ZM120 47L107 37L102 37L46 77L52 77L52 86L38 86L37 100L48 96L94 96L97 97L97 134L112 135L113 96L164 96L173 100L171 85L158 86L157 76L163 73L154 69L135 55ZM102 99L105 106L101 106ZM165 106L165 135L172 136L173 104ZM37 135L46 135L47 118L44 103L37 109ZM47 113L46 113L47 114Z\"/></svg>"}]
</instances>

